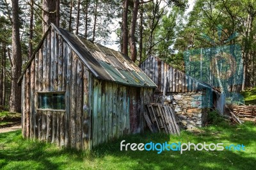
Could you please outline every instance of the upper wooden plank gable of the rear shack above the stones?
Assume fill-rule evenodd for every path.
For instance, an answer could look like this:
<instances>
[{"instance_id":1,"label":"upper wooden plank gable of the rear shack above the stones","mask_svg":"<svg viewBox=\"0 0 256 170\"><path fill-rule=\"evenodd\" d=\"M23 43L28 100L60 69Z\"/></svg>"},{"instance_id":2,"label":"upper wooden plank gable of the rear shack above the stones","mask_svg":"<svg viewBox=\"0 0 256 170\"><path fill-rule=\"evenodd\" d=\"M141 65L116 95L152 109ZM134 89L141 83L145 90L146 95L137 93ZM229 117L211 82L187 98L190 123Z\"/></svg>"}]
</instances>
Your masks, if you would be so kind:
<instances>
[{"instance_id":1,"label":"upper wooden plank gable of the rear shack above the stones","mask_svg":"<svg viewBox=\"0 0 256 170\"><path fill-rule=\"evenodd\" d=\"M200 82L154 56L148 57L141 63L140 68L155 82L156 92L164 91L164 82L166 82L166 93L191 92L204 88Z\"/></svg>"}]
</instances>

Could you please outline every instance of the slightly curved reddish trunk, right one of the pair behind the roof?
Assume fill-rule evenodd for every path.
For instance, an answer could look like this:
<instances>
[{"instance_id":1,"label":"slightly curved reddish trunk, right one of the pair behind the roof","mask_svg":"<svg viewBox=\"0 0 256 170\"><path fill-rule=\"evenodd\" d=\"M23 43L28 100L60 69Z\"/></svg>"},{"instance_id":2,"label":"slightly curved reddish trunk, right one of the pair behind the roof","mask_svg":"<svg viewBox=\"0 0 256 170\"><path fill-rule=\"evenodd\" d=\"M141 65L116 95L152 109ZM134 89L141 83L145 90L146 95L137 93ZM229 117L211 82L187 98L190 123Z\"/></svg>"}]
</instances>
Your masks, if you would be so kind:
<instances>
[{"instance_id":1,"label":"slightly curved reddish trunk, right one of the pair behind the roof","mask_svg":"<svg viewBox=\"0 0 256 170\"><path fill-rule=\"evenodd\" d=\"M137 58L135 29L136 29L136 20L138 15L139 3L140 3L140 0L134 0L133 10L132 10L132 21L131 21L131 28L130 28L130 38L129 38L131 60L134 62L136 61L136 58Z\"/></svg>"}]
</instances>

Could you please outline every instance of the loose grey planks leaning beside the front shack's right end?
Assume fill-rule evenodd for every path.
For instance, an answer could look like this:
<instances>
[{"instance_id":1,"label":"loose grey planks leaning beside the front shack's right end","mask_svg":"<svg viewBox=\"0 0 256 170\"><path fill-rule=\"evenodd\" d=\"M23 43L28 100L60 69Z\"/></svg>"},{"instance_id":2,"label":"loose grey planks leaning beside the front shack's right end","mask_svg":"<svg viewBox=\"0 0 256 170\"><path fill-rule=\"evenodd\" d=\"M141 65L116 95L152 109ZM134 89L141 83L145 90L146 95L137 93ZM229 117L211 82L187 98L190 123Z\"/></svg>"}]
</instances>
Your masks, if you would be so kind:
<instances>
[{"instance_id":1,"label":"loose grey planks leaning beside the front shack's right end","mask_svg":"<svg viewBox=\"0 0 256 170\"><path fill-rule=\"evenodd\" d=\"M147 104L145 110L144 118L151 132L180 135L180 128L172 105Z\"/></svg>"}]
</instances>

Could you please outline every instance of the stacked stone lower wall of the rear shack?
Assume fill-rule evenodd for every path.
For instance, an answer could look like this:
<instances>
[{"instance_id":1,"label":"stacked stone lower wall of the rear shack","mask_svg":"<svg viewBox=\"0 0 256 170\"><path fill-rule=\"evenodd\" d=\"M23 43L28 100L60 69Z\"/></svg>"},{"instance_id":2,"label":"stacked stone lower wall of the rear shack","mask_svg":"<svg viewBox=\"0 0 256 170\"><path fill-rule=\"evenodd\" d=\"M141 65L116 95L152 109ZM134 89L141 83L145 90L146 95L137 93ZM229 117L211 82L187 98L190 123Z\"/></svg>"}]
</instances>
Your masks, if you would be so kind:
<instances>
[{"instance_id":1,"label":"stacked stone lower wall of the rear shack","mask_svg":"<svg viewBox=\"0 0 256 170\"><path fill-rule=\"evenodd\" d=\"M161 102L163 93L155 93L154 102ZM206 98L205 98L206 97ZM208 101L207 101L208 100ZM207 121L207 110L204 103L211 102L205 91L186 93L166 93L165 104L173 104L182 128L204 127Z\"/></svg>"}]
</instances>

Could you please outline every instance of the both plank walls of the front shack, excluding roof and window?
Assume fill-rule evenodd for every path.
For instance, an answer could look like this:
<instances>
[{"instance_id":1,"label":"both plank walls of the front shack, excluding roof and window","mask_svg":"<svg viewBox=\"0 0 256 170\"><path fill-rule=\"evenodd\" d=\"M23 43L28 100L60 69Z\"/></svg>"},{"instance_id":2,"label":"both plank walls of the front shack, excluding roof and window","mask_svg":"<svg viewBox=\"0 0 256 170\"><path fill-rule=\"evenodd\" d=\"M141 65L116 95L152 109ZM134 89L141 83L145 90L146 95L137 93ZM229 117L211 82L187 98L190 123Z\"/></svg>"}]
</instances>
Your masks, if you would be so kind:
<instances>
[{"instance_id":1,"label":"both plank walls of the front shack, excluding roof and window","mask_svg":"<svg viewBox=\"0 0 256 170\"><path fill-rule=\"evenodd\" d=\"M38 109L38 92L58 91L65 92L65 110ZM22 135L58 146L92 149L143 131L143 106L152 101L153 89L93 77L51 29L22 79Z\"/></svg>"}]
</instances>

